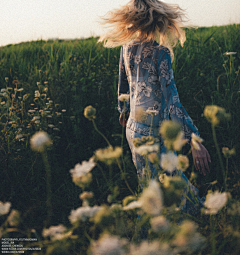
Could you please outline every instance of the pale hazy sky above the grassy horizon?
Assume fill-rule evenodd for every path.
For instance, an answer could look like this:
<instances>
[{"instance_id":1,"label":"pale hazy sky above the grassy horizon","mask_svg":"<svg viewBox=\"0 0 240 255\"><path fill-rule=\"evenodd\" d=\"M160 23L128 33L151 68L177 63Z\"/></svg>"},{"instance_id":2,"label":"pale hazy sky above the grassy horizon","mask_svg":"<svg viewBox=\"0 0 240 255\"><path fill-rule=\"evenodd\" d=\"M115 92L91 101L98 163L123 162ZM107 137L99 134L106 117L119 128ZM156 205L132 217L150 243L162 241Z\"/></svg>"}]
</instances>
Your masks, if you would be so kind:
<instances>
[{"instance_id":1,"label":"pale hazy sky above the grassy horizon","mask_svg":"<svg viewBox=\"0 0 240 255\"><path fill-rule=\"evenodd\" d=\"M129 0L0 0L0 46L99 36L100 17ZM187 25L240 23L240 0L164 0L186 10Z\"/></svg>"}]
</instances>

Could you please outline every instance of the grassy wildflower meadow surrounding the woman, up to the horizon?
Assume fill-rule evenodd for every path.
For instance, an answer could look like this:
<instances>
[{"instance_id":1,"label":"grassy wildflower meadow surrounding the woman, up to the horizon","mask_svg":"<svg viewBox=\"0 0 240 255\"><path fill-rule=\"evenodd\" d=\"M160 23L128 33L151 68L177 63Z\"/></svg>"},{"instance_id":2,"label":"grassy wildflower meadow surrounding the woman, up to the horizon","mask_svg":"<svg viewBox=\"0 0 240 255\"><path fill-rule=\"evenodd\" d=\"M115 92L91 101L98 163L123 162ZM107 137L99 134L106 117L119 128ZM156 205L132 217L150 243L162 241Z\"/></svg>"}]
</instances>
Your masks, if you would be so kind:
<instances>
[{"instance_id":1,"label":"grassy wildflower meadow surrounding the woman, up to the horizon","mask_svg":"<svg viewBox=\"0 0 240 255\"><path fill-rule=\"evenodd\" d=\"M181 103L212 161L210 174L199 174L185 145L180 152L189 158L185 174L201 195L219 191L228 197L216 214L185 215L182 223L175 201L166 202L171 192L179 192L177 179L169 181L174 191L161 184L165 204L157 217L162 218L144 208L126 209L143 193L118 122L120 47L106 49L93 37L1 47L0 238L37 238L24 246L41 251L28 254L150 254L150 249L151 254L239 254L239 31L239 24L189 28L184 47L174 48ZM90 120L84 116L89 105L96 109ZM209 105L222 107L231 119L224 121L225 113L218 111L220 123L212 124L204 115ZM39 131L52 144L36 152L30 139ZM123 149L111 164L96 159L96 151L109 144ZM230 152L223 153L224 147ZM90 164L93 155L91 176L74 182L69 171L83 161ZM7 202L11 210L4 211ZM75 220L72 210L84 207L88 211ZM51 226L58 229L47 232ZM148 242L143 227L149 230Z\"/></svg>"}]
</instances>

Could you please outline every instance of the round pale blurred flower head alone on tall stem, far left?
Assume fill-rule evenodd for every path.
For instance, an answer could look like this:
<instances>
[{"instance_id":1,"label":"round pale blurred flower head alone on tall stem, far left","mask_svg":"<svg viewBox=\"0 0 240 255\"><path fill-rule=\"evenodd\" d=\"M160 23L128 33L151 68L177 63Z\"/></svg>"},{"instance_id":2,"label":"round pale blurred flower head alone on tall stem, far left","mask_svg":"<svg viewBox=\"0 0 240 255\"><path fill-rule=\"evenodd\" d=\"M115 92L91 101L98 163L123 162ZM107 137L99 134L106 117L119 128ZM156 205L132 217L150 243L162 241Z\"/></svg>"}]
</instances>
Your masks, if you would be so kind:
<instances>
[{"instance_id":1,"label":"round pale blurred flower head alone on tall stem, far left","mask_svg":"<svg viewBox=\"0 0 240 255\"><path fill-rule=\"evenodd\" d=\"M35 133L30 139L32 150L43 152L47 146L50 146L52 141L49 135L44 131Z\"/></svg>"}]
</instances>

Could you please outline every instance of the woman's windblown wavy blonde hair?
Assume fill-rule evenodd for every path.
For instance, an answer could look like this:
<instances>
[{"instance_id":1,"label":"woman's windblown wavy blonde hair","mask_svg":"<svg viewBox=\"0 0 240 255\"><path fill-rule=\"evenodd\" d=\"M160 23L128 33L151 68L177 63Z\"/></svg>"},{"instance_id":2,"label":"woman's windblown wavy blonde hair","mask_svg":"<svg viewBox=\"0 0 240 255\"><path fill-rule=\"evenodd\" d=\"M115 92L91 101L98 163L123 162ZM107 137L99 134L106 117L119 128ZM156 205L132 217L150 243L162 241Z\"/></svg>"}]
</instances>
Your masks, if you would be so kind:
<instances>
[{"instance_id":1,"label":"woman's windblown wavy blonde hair","mask_svg":"<svg viewBox=\"0 0 240 255\"><path fill-rule=\"evenodd\" d=\"M120 9L102 17L103 24L112 29L99 38L105 47L121 46L136 37L141 41L157 41L172 51L179 40L183 46L186 36L181 24L184 11L178 5L158 0L131 0Z\"/></svg>"}]
</instances>

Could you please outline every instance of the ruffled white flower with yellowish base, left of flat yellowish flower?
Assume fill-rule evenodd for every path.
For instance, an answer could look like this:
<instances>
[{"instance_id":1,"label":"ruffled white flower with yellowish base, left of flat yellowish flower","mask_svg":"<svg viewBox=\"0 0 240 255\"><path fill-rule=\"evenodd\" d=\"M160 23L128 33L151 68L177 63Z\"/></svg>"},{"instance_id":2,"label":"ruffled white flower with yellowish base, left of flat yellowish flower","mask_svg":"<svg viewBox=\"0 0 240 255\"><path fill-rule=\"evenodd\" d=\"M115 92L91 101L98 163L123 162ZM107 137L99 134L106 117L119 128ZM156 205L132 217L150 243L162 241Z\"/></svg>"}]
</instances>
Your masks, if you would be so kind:
<instances>
[{"instance_id":1,"label":"ruffled white flower with yellowish base, left of flat yellowish flower","mask_svg":"<svg viewBox=\"0 0 240 255\"><path fill-rule=\"evenodd\" d=\"M95 165L93 158L89 161L83 161L82 164L76 164L74 169L69 171L72 175L72 181L79 187L88 185L92 181L92 174L90 171Z\"/></svg>"}]
</instances>

